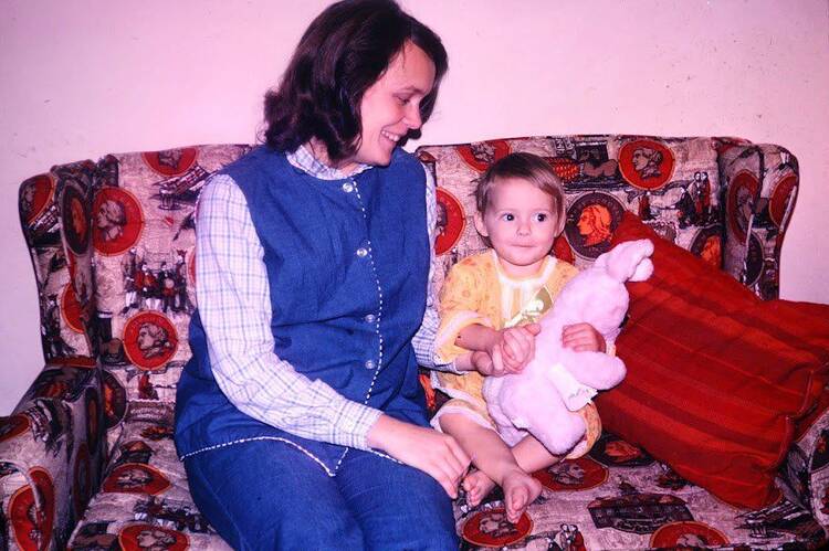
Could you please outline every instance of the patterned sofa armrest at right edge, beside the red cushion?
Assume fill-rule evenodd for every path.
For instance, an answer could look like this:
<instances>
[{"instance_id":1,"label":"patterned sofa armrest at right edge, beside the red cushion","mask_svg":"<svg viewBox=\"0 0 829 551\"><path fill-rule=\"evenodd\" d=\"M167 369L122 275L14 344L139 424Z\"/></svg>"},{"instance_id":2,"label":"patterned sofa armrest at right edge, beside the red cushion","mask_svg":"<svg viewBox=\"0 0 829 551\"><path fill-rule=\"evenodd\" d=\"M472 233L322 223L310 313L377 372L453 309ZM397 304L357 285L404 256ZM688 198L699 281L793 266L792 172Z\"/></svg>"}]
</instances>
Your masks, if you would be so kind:
<instances>
[{"instance_id":1,"label":"patterned sofa armrest at right edge, beside the red cushion","mask_svg":"<svg viewBox=\"0 0 829 551\"><path fill-rule=\"evenodd\" d=\"M819 405L821 413L806 422L808 428L791 445L779 478L829 533L829 395Z\"/></svg>"}]
</instances>

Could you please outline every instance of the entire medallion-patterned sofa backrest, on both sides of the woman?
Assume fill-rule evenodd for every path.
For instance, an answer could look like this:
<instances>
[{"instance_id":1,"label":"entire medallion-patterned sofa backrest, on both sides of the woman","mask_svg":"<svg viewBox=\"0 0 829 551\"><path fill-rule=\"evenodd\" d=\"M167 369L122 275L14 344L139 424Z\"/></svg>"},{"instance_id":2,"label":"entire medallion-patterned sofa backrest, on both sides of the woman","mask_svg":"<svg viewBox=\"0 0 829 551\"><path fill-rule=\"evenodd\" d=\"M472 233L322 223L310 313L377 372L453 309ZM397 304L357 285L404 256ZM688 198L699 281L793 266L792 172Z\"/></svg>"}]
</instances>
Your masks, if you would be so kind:
<instances>
[{"instance_id":1,"label":"entire medallion-patterned sofa backrest, on both sides of the woman","mask_svg":"<svg viewBox=\"0 0 829 551\"><path fill-rule=\"evenodd\" d=\"M20 215L50 363L101 365L107 424L127 403L175 400L197 303L193 209L212 172L250 146L109 155L24 181ZM797 194L797 161L778 146L732 138L557 136L422 146L439 186L437 252L445 271L485 245L476 179L510 151L545 157L565 182L556 255L585 266L606 251L623 210L777 296L779 253Z\"/></svg>"}]
</instances>

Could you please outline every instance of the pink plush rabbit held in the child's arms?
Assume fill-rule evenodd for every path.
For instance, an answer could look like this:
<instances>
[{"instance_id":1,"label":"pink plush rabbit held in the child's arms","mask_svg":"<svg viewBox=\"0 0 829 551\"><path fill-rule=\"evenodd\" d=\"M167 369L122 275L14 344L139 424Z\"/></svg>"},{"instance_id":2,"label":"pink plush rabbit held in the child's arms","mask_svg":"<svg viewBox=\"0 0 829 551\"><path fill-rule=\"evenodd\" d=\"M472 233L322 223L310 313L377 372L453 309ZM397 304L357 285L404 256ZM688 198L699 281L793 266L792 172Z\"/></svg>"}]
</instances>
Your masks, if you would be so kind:
<instances>
[{"instance_id":1,"label":"pink plush rabbit held in the child's arms","mask_svg":"<svg viewBox=\"0 0 829 551\"><path fill-rule=\"evenodd\" d=\"M597 390L625 379L625 363L602 352L576 352L562 346L565 326L588 322L610 343L628 311L625 282L642 282L653 273L653 243L626 242L596 258L565 285L553 308L539 320L535 358L521 373L487 377L483 395L504 441L513 446L527 432L547 449L564 455L585 434L575 413Z\"/></svg>"}]
</instances>

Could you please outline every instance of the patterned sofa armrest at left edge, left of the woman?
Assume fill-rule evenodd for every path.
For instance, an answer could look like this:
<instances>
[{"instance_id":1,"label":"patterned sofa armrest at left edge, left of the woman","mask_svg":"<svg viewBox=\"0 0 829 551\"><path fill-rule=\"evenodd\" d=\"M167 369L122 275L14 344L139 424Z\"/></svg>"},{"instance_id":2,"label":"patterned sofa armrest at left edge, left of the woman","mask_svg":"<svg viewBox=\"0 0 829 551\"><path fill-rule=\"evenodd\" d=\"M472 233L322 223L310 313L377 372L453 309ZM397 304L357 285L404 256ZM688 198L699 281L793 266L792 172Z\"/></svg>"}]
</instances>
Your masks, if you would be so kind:
<instances>
[{"instance_id":1,"label":"patterned sofa armrest at left edge, left of the woman","mask_svg":"<svg viewBox=\"0 0 829 551\"><path fill-rule=\"evenodd\" d=\"M65 547L99 485L103 412L97 369L48 365L0 417L0 544Z\"/></svg>"}]
</instances>

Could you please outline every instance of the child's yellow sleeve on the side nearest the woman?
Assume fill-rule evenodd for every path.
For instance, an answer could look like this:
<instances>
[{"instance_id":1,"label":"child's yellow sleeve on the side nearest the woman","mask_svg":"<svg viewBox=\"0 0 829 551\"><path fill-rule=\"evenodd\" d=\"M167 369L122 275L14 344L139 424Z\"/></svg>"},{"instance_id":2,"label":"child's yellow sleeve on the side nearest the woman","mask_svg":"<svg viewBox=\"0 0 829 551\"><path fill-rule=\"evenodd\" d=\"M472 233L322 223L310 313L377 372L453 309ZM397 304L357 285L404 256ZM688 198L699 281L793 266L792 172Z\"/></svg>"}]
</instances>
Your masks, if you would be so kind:
<instances>
[{"instance_id":1,"label":"child's yellow sleeve on the side nearest the woman","mask_svg":"<svg viewBox=\"0 0 829 551\"><path fill-rule=\"evenodd\" d=\"M484 277L472 262L461 261L449 271L440 289L440 329L434 350L441 362L450 362L469 350L457 346L458 335L465 327L480 324L492 327L481 315Z\"/></svg>"}]
</instances>

